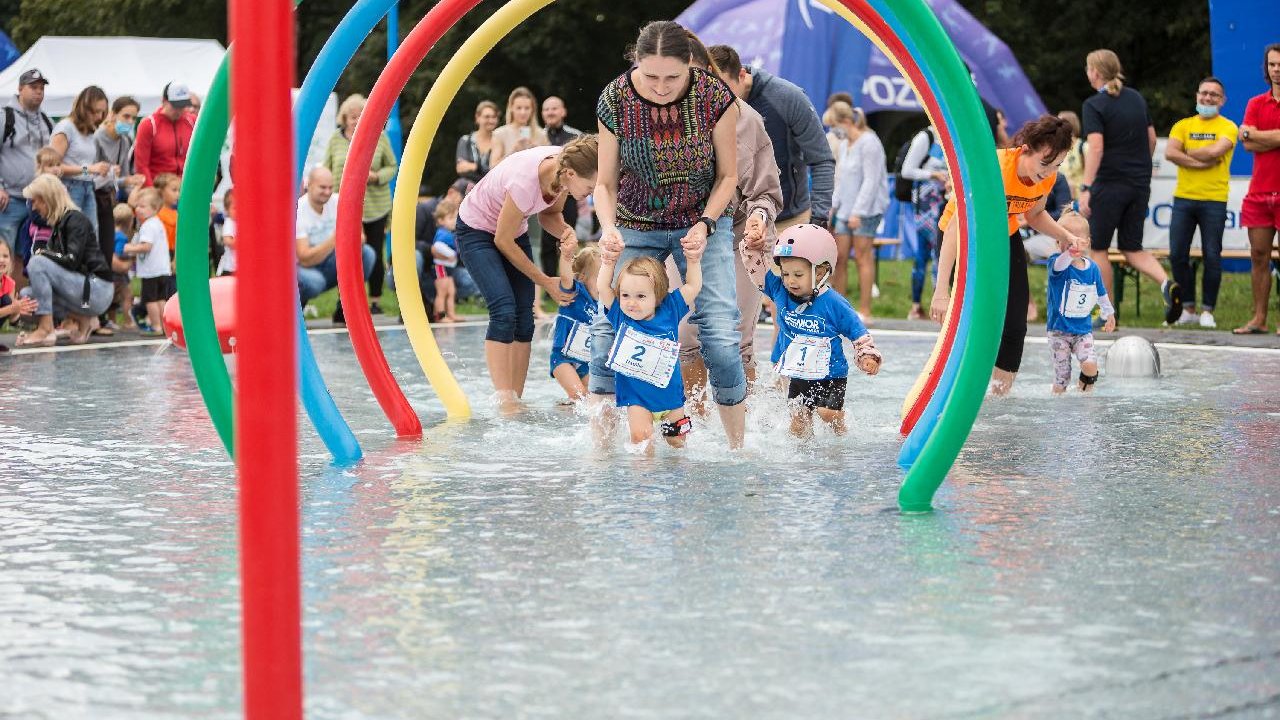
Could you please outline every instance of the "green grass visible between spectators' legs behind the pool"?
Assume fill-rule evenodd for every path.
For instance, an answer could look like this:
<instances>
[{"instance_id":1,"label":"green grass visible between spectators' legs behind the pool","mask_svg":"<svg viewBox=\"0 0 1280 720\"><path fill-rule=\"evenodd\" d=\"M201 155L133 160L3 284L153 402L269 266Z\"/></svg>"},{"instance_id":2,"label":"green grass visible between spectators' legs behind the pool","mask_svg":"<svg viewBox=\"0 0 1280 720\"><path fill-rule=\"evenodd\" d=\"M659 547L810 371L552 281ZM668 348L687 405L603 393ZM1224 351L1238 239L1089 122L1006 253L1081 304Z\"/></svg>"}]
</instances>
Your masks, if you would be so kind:
<instances>
[{"instance_id":1,"label":"green grass visible between spectators' legs behind the pool","mask_svg":"<svg viewBox=\"0 0 1280 720\"><path fill-rule=\"evenodd\" d=\"M1167 268L1166 268L1167 270ZM1028 272L1032 297L1039 307L1039 320L1044 322L1044 287L1048 272L1046 265L1032 265ZM872 314L876 318L905 319L911 307L911 263L908 260L881 260L879 264L879 290L881 296L872 301ZM1197 291L1199 290L1197 284ZM1137 296L1142 292L1142 315L1138 314ZM925 281L925 302L932 296L933 283ZM858 301L858 266L849 263L849 296ZM333 315L334 305L338 301L338 291L330 290L311 301L315 305L317 316L324 319ZM1253 314L1253 300L1249 290L1248 273L1222 273L1222 287L1219 292L1217 307L1213 316L1217 319L1217 329L1203 329L1199 325L1183 325L1179 329L1194 329L1202 332L1230 332L1231 328L1243 325ZM389 316L399 315L399 304L396 292L385 290L383 292L383 313ZM554 311L550 301L544 302L548 311ZM484 306L474 302L458 304L460 315L485 315ZM1151 279L1143 277L1134 288L1133 278L1125 279L1124 302L1120 305L1120 325L1132 328L1158 328L1165 322L1164 301L1160 297L1160 288Z\"/></svg>"}]
</instances>

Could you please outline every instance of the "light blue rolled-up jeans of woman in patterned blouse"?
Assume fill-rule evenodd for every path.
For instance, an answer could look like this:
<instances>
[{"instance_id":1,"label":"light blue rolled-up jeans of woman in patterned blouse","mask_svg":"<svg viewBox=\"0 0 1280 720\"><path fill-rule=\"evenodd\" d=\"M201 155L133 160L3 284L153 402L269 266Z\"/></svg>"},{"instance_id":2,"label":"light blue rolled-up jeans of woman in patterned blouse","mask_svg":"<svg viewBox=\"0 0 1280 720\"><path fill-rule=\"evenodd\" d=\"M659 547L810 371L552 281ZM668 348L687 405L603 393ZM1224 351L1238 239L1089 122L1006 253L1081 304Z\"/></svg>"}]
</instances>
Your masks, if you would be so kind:
<instances>
[{"instance_id":1,"label":"light blue rolled-up jeans of woman in patterned blouse","mask_svg":"<svg viewBox=\"0 0 1280 720\"><path fill-rule=\"evenodd\" d=\"M620 228L626 247L618 259L618 268L637 255L648 255L659 264L667 256L676 259L676 268L685 274L685 251L680 240L689 228L673 231L634 231ZM742 370L742 355L739 350L737 331L737 288L733 264L733 219L721 218L716 232L707 238L707 251L703 252L703 288L694 301L690 322L698 325L701 340L703 360L712 386L712 396L717 405L737 405L746 398L746 374ZM471 260L467 260L471 265ZM475 274L475 268L471 268ZM479 281L479 278L476 278ZM481 287L484 287L481 284ZM613 346L613 325L605 313L595 316L591 325L591 375L588 388L596 395L613 393L613 370L605 366L609 347Z\"/></svg>"}]
</instances>

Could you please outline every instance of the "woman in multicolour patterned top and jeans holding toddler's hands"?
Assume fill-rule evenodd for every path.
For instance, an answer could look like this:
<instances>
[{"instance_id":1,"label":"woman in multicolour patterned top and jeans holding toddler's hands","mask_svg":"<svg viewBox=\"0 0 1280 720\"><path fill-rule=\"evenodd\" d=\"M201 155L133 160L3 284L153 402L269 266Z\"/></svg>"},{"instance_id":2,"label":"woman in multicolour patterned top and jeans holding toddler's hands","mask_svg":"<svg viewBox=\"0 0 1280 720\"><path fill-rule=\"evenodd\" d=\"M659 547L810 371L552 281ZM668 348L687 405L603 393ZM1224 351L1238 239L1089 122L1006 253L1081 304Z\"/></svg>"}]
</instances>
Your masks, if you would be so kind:
<instances>
[{"instance_id":1,"label":"woman in multicolour patterned top and jeans holding toddler's hands","mask_svg":"<svg viewBox=\"0 0 1280 720\"><path fill-rule=\"evenodd\" d=\"M699 327L712 396L730 447L742 446L746 377L739 355L733 219L737 186L737 106L716 76L690 67L689 33L662 20L636 40L634 67L605 86L596 105L600 167L595 213L600 249L659 263L668 255L685 272L685 250L703 252ZM591 328L593 396L612 395L608 368L614 332L603 315Z\"/></svg>"}]
</instances>

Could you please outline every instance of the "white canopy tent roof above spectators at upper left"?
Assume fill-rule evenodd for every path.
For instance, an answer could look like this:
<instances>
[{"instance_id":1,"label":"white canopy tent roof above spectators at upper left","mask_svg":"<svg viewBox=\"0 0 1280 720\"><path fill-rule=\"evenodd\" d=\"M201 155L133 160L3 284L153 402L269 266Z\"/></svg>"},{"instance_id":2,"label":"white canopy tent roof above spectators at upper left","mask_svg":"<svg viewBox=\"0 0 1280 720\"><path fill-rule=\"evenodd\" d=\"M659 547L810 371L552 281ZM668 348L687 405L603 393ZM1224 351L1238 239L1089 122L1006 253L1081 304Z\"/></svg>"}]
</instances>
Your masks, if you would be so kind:
<instances>
[{"instance_id":1,"label":"white canopy tent roof above spectators at upper left","mask_svg":"<svg viewBox=\"0 0 1280 720\"><path fill-rule=\"evenodd\" d=\"M111 100L132 95L146 115L160 106L160 94L172 81L204 97L225 51L216 40L45 36L0 72L0 94L12 97L18 77L40 68L49 78L42 109L51 117L70 113L76 96L90 85Z\"/></svg>"}]
</instances>

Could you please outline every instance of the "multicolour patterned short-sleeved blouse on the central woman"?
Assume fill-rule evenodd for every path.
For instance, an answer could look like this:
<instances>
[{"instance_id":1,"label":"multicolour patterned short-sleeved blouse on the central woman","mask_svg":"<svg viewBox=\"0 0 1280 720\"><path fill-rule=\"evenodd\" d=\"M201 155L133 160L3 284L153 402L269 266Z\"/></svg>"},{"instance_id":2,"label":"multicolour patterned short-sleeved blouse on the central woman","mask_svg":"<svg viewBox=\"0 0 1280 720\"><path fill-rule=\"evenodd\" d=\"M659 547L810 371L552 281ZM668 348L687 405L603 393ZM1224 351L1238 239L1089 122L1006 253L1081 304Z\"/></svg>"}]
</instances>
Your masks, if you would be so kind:
<instances>
[{"instance_id":1,"label":"multicolour patterned short-sleeved blouse on the central woman","mask_svg":"<svg viewBox=\"0 0 1280 720\"><path fill-rule=\"evenodd\" d=\"M716 184L712 133L731 105L728 86L698 68L690 68L685 95L666 105L641 97L630 70L604 87L595 114L618 138L620 227L682 229L698 222Z\"/></svg>"}]
</instances>

